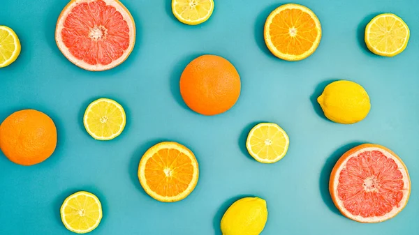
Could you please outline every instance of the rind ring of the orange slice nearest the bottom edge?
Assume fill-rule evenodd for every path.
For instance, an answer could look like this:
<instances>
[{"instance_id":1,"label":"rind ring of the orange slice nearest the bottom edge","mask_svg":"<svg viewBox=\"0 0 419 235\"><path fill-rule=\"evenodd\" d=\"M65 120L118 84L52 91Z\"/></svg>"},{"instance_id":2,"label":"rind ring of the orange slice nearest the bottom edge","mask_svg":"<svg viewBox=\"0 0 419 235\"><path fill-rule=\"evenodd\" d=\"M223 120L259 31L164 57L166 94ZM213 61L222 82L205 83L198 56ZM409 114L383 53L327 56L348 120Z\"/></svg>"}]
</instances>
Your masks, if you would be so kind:
<instances>
[{"instance_id":1,"label":"rind ring of the orange slice nearest the bottom edge","mask_svg":"<svg viewBox=\"0 0 419 235\"><path fill-rule=\"evenodd\" d=\"M158 151L161 149L176 149L177 151L180 151L181 153L184 153L184 155L188 156L191 159L191 164L193 166L194 172L191 179L191 182L189 183L188 188L184 190L184 192L180 193L177 196L173 197L165 197L157 194L154 192L149 185L147 185L147 179L145 176L145 167L147 165L147 161L154 156ZM195 155L192 153L191 150L189 150L186 146L183 146L182 144L178 144L176 142L161 142L159 144L156 144L152 146L150 149L148 149L144 156L142 156L140 160L140 165L138 166L138 179L140 180L140 184L142 188L147 192L147 194L156 199L159 202L178 202L186 197L188 197L191 192L195 189L197 183L198 183L198 177L199 177L199 168L198 168L198 161L196 160Z\"/></svg>"}]
</instances>

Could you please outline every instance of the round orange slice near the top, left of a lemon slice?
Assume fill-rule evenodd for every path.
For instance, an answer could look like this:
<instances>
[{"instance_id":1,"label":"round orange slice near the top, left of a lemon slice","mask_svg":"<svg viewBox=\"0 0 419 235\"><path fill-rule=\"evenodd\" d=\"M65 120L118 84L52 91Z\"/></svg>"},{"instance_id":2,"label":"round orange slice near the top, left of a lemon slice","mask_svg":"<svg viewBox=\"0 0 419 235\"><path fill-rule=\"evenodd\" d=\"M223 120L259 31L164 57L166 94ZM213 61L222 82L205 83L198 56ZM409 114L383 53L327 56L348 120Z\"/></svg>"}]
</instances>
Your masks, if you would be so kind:
<instances>
[{"instance_id":1,"label":"round orange slice near the top, left of a lemon slice","mask_svg":"<svg viewBox=\"0 0 419 235\"><path fill-rule=\"evenodd\" d=\"M320 40L320 21L305 6L285 4L267 17L265 43L272 54L280 59L306 59L316 51Z\"/></svg>"}]
</instances>

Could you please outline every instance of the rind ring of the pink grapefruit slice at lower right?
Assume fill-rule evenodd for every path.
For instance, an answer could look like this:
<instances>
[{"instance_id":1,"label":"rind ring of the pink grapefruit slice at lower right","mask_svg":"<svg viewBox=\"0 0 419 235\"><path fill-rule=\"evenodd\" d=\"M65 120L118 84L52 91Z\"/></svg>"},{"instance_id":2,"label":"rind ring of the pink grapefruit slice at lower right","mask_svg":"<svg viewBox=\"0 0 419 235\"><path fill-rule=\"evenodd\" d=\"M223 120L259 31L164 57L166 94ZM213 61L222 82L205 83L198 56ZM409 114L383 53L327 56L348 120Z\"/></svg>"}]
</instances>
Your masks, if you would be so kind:
<instances>
[{"instance_id":1,"label":"rind ring of the pink grapefruit slice at lower right","mask_svg":"<svg viewBox=\"0 0 419 235\"><path fill-rule=\"evenodd\" d=\"M397 167L399 171L402 173L403 181L404 181L404 193L402 200L400 201L399 207L395 206L392 211L389 213L386 213L385 215L381 217L369 217L365 218L360 215L353 215L351 212L349 212L345 207L344 203L339 199L338 192L337 192L337 186L339 184L339 176L340 172L344 167L346 167L346 162L350 160L352 157L358 156L360 153L365 151L380 151L383 153L387 158L391 158L394 160L397 164ZM335 167L332 169L332 174L330 175L330 181L329 181L329 191L330 195L332 196L333 203L339 209L339 211L346 216L346 218L349 218L351 220L355 220L357 222L362 223L375 223L375 222L383 222L385 220L389 220L390 218L395 217L400 211L404 209L407 202L409 201L409 196L411 192L411 181L409 177L409 172L407 171L406 165L404 165L404 162L402 159L400 159L395 153L390 151L390 149L385 148L384 146L380 146L377 144L362 144L360 146L357 146L346 153L344 153L341 158L337 161Z\"/></svg>"}]
</instances>

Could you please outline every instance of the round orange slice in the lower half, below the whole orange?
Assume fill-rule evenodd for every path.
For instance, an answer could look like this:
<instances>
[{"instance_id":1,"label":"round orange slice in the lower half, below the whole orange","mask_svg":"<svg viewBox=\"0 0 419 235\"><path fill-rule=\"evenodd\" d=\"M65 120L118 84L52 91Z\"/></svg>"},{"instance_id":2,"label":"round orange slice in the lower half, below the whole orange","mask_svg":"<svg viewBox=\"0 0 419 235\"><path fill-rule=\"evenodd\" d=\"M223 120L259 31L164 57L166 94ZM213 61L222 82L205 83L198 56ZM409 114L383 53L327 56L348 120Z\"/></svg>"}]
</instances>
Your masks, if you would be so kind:
<instances>
[{"instance_id":1,"label":"round orange slice in the lower half, below the whole orange","mask_svg":"<svg viewBox=\"0 0 419 235\"><path fill-rule=\"evenodd\" d=\"M193 153L175 142L162 142L147 150L138 167L142 188L160 202L186 198L198 183L198 176Z\"/></svg>"}]
</instances>

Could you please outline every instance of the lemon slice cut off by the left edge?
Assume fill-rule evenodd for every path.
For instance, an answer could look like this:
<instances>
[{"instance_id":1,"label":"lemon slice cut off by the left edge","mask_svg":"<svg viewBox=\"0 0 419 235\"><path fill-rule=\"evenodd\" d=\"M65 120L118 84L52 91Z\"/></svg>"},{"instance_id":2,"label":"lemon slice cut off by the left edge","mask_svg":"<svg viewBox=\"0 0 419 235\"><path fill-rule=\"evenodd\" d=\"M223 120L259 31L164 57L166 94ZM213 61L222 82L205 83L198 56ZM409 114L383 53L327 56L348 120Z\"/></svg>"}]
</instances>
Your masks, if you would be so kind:
<instances>
[{"instance_id":1,"label":"lemon slice cut off by the left edge","mask_svg":"<svg viewBox=\"0 0 419 235\"><path fill-rule=\"evenodd\" d=\"M0 25L0 68L13 63L20 54L20 41L15 31Z\"/></svg>"}]
</instances>

